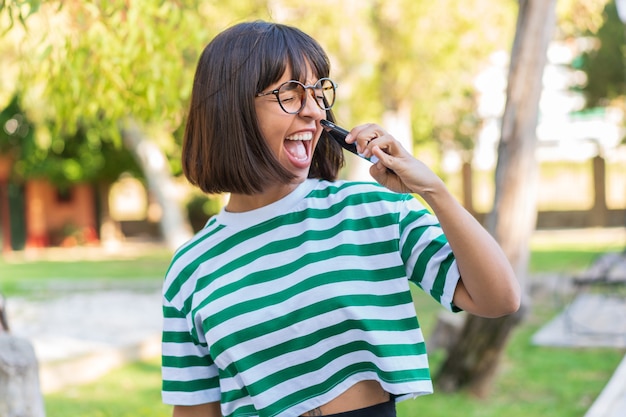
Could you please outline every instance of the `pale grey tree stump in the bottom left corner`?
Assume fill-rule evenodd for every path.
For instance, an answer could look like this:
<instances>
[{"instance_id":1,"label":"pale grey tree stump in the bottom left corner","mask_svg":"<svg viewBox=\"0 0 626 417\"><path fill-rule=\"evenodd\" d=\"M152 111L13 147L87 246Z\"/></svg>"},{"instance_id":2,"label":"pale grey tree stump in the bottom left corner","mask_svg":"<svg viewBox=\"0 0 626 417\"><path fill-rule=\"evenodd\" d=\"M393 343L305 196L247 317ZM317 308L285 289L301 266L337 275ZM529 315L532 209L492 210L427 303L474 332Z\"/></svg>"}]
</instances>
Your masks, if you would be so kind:
<instances>
[{"instance_id":1,"label":"pale grey tree stump in the bottom left corner","mask_svg":"<svg viewBox=\"0 0 626 417\"><path fill-rule=\"evenodd\" d=\"M35 351L8 333L0 333L0 416L45 416Z\"/></svg>"}]
</instances>

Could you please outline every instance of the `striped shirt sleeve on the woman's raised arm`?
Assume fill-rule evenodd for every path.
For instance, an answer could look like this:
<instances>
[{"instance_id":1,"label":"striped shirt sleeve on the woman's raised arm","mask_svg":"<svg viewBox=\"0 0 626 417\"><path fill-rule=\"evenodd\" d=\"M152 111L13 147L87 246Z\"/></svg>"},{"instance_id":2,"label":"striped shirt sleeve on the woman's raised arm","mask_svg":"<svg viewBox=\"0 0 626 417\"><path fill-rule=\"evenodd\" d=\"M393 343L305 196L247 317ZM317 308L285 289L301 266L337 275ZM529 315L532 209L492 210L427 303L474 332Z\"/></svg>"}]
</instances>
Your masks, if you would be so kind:
<instances>
[{"instance_id":1,"label":"striped shirt sleeve on the woman's raised arm","mask_svg":"<svg viewBox=\"0 0 626 417\"><path fill-rule=\"evenodd\" d=\"M460 311L453 298L461 274L437 218L417 199L407 196L399 224L400 252L409 280L446 309Z\"/></svg>"}]
</instances>

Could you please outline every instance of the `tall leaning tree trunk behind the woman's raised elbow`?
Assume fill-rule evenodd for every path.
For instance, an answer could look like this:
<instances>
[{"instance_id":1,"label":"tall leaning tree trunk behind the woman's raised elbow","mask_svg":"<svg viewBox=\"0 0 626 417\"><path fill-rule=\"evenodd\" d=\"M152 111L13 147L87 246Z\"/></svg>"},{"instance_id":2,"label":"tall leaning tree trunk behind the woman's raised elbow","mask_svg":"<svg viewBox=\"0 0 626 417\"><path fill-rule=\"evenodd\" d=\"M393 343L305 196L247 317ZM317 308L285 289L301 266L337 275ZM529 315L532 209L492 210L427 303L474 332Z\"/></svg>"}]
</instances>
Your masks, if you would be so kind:
<instances>
[{"instance_id":1,"label":"tall leaning tree trunk behind the woman's raised elbow","mask_svg":"<svg viewBox=\"0 0 626 417\"><path fill-rule=\"evenodd\" d=\"M448 351L437 375L444 391L467 388L484 397L491 388L506 341L528 309L525 277L535 228L536 127L547 49L556 24L556 0L520 0L509 68L507 103L498 147L493 211L486 227L502 246L523 288L516 314L485 319L468 316L461 343Z\"/></svg>"}]
</instances>

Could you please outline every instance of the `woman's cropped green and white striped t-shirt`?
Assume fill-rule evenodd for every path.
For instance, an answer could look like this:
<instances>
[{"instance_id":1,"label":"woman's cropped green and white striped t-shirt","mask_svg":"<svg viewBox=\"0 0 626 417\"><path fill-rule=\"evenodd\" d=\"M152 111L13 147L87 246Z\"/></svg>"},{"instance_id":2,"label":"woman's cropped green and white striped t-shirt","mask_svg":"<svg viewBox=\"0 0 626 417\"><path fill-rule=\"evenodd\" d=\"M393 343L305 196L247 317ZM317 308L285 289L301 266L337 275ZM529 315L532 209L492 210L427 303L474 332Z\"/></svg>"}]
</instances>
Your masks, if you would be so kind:
<instances>
[{"instance_id":1,"label":"woman's cropped green and white striped t-shirt","mask_svg":"<svg viewBox=\"0 0 626 417\"><path fill-rule=\"evenodd\" d=\"M163 401L298 416L362 380L400 399L431 393L409 280L456 310L450 246L408 194L309 179L222 211L165 278Z\"/></svg>"}]
</instances>

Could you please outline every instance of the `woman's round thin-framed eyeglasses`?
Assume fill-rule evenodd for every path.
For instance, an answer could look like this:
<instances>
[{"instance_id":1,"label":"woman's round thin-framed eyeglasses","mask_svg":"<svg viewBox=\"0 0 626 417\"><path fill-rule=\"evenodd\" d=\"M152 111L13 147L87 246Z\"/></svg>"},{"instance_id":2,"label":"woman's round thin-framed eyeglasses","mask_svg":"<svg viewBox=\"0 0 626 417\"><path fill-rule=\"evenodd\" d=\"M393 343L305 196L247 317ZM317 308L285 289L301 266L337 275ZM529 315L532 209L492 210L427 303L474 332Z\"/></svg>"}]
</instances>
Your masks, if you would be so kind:
<instances>
[{"instance_id":1,"label":"woman's round thin-framed eyeglasses","mask_svg":"<svg viewBox=\"0 0 626 417\"><path fill-rule=\"evenodd\" d=\"M306 90L309 88L313 90L313 97L320 109L330 110L333 107L337 84L330 78L320 78L313 85L304 85L300 81L291 80L281 84L276 90L258 93L256 96L264 97L274 94L285 113L297 114L306 105Z\"/></svg>"}]
</instances>

